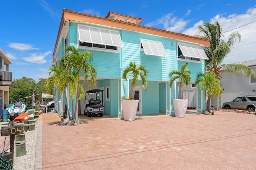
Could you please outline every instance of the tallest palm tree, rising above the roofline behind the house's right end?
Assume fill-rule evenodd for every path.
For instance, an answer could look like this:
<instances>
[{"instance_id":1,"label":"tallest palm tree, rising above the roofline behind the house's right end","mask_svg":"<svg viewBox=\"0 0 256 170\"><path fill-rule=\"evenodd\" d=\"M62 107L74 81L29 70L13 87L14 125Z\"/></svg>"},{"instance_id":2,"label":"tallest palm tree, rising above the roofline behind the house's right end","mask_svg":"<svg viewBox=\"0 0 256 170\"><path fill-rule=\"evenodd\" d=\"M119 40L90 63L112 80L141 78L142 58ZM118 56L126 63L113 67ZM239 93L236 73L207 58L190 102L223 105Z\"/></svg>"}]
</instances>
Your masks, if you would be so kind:
<instances>
[{"instance_id":1,"label":"tallest palm tree, rising above the roofline behind the house's right end","mask_svg":"<svg viewBox=\"0 0 256 170\"><path fill-rule=\"evenodd\" d=\"M204 23L204 27L198 26L199 34L195 35L196 37L210 39L210 46L205 48L205 53L208 57L208 60L205 60L206 70L209 72L214 72L216 78L220 80L220 70L223 69L229 73L241 73L246 74L247 76L252 76L255 78L254 71L245 65L242 64L222 64L224 58L228 53L230 53L231 47L236 41L241 41L241 35L237 31L233 31L229 37L228 41L225 42L222 37L224 34L222 32L222 27L218 21L215 23Z\"/></svg>"}]
</instances>

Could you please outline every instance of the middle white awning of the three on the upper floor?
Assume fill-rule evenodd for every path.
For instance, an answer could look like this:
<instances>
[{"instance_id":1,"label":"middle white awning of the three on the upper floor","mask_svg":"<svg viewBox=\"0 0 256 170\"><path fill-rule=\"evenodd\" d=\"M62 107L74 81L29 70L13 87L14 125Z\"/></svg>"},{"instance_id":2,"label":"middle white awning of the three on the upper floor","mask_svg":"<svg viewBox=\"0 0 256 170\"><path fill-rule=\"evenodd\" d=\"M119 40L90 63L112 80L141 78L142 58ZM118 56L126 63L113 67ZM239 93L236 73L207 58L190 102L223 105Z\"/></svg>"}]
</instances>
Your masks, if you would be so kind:
<instances>
[{"instance_id":1,"label":"middle white awning of the three on the upper floor","mask_svg":"<svg viewBox=\"0 0 256 170\"><path fill-rule=\"evenodd\" d=\"M152 41L148 39L140 39L140 42L146 55L167 57L162 42Z\"/></svg>"}]
</instances>

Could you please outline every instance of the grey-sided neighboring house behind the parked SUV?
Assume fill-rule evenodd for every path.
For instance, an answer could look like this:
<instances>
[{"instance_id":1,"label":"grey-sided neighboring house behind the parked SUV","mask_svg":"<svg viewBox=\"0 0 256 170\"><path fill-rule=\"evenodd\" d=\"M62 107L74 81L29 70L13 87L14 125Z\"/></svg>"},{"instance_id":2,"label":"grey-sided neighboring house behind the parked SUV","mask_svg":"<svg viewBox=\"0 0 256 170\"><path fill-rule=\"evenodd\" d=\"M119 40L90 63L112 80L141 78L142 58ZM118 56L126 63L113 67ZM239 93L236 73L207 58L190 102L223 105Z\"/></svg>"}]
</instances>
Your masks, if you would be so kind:
<instances>
[{"instance_id":1,"label":"grey-sided neighboring house behind the parked SUV","mask_svg":"<svg viewBox=\"0 0 256 170\"><path fill-rule=\"evenodd\" d=\"M256 60L236 64L246 65L256 72ZM224 102L230 102L239 96L256 95L256 79L252 79L251 76L227 73L224 70L221 70L220 76L222 76L220 85L223 88L223 94L218 98L212 98L212 105L214 107L222 107Z\"/></svg>"}]
</instances>

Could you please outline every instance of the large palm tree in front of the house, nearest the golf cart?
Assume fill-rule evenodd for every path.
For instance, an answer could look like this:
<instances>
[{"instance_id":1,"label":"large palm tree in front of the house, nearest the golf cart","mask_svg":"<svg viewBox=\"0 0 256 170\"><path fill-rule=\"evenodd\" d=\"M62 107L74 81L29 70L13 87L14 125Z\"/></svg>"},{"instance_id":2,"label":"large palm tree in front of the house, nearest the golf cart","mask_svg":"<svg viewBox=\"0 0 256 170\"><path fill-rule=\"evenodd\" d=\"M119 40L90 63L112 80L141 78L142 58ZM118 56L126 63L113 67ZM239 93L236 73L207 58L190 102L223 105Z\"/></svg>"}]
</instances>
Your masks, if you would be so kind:
<instances>
[{"instance_id":1,"label":"large palm tree in front of the house, nearest the golf cart","mask_svg":"<svg viewBox=\"0 0 256 170\"><path fill-rule=\"evenodd\" d=\"M73 99L75 94L80 90L80 96L76 95L76 106L75 110L72 109L74 114L73 119L78 117L78 100L82 99L85 94L85 90L82 87L80 81L80 74L84 71L84 80L91 78L89 87L96 85L96 76L97 70L91 64L92 63L92 52L90 51L80 51L73 45L65 47L65 55L60 58L60 61L63 63L64 68L72 75L72 86L70 87L70 97ZM72 102L73 105L73 102ZM73 106L74 107L74 106Z\"/></svg>"}]
</instances>

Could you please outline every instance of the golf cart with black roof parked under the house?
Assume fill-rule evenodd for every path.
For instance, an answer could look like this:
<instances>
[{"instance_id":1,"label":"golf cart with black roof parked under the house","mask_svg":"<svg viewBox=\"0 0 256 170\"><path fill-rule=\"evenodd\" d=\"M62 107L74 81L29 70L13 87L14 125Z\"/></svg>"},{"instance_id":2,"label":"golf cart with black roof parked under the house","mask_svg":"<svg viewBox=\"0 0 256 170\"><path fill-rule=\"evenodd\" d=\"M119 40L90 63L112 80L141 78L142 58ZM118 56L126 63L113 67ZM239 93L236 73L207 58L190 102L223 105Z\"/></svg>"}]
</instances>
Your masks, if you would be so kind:
<instances>
[{"instance_id":1,"label":"golf cart with black roof parked under the house","mask_svg":"<svg viewBox=\"0 0 256 170\"><path fill-rule=\"evenodd\" d=\"M84 115L91 117L94 115L104 115L104 90L93 89L88 90L84 99Z\"/></svg>"}]
</instances>

